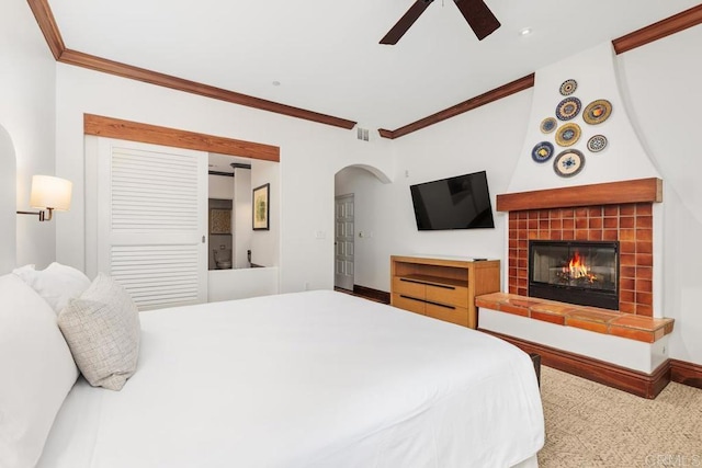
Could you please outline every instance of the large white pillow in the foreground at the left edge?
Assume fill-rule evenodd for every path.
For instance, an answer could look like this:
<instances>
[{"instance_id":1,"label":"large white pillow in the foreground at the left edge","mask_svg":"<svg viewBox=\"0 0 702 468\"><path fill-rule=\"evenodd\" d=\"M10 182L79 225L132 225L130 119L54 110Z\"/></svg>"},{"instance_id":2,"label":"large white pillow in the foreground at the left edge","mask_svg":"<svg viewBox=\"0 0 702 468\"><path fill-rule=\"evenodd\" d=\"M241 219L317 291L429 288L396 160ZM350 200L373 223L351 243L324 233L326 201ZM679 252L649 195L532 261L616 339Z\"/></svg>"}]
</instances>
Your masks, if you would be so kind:
<instances>
[{"instance_id":1,"label":"large white pillow in the foreground at the left edge","mask_svg":"<svg viewBox=\"0 0 702 468\"><path fill-rule=\"evenodd\" d=\"M33 467L78 369L56 313L12 274L0 276L0 466Z\"/></svg>"}]
</instances>

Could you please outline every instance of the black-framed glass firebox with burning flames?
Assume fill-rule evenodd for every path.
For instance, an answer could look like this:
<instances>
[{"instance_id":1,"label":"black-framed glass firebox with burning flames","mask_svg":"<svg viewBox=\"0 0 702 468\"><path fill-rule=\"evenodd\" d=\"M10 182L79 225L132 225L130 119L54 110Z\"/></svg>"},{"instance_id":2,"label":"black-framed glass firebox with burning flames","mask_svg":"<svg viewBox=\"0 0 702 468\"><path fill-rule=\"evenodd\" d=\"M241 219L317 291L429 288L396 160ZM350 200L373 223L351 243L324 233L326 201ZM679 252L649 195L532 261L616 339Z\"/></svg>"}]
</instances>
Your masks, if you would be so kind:
<instances>
[{"instance_id":1,"label":"black-framed glass firebox with burning flames","mask_svg":"<svg viewBox=\"0 0 702 468\"><path fill-rule=\"evenodd\" d=\"M529 241L529 296L619 309L619 242Z\"/></svg>"}]
</instances>

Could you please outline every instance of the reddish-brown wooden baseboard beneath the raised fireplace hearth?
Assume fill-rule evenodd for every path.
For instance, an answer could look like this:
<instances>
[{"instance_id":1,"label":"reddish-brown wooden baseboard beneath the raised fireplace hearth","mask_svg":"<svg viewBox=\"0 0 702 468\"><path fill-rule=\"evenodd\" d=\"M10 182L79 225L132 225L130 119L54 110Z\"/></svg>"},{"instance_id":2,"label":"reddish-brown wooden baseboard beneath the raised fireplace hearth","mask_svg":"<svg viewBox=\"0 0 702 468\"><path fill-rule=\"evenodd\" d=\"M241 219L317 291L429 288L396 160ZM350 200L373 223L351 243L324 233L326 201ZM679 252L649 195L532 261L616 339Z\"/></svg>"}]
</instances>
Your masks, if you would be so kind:
<instances>
[{"instance_id":1,"label":"reddish-brown wooden baseboard beneath the raised fireplace hearth","mask_svg":"<svg viewBox=\"0 0 702 468\"><path fill-rule=\"evenodd\" d=\"M588 380L597 381L638 397L656 398L671 379L670 359L658 366L658 368L649 375L603 361L593 359L581 354L557 350L489 330L478 330L512 343L526 353L540 354L541 363L544 366L577 375L578 377L587 378Z\"/></svg>"}]
</instances>

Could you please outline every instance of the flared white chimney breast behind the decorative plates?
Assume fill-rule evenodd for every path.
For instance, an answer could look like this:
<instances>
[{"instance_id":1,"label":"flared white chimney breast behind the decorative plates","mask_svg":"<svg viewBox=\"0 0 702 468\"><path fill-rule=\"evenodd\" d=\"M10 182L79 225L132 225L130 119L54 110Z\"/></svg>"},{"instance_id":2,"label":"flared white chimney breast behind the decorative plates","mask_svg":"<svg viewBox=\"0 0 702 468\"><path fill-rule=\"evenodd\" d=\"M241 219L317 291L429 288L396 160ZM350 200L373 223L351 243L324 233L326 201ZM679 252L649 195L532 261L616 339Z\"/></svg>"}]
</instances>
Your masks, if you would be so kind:
<instances>
[{"instance_id":1,"label":"flared white chimney breast behind the decorative plates","mask_svg":"<svg viewBox=\"0 0 702 468\"><path fill-rule=\"evenodd\" d=\"M508 193L660 178L627 116L614 60L614 49L608 42L536 71L529 127ZM568 79L577 81L577 89L564 96L559 91L561 84ZM543 134L541 122L556 117L558 103L573 96L581 102L578 115L569 121L556 118L556 130ZM597 125L586 123L582 118L585 109L601 99L612 104L610 117ZM566 148L558 146L556 134L562 125L568 123L579 125L581 135L575 145ZM600 152L591 152L587 148L588 139L596 135L608 139L608 146ZM554 146L553 156L546 162L535 162L531 157L532 149L541 141L550 141ZM586 160L582 171L571 178L563 178L553 169L553 161L566 149L579 150Z\"/></svg>"}]
</instances>

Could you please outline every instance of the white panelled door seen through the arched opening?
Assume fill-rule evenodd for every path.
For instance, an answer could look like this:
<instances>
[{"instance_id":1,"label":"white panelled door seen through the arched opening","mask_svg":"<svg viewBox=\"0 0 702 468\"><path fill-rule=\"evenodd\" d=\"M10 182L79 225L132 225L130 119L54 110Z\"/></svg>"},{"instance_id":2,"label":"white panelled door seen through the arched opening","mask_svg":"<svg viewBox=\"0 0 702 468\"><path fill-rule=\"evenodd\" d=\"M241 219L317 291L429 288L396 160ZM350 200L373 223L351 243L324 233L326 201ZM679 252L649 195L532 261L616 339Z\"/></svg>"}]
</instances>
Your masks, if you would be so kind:
<instances>
[{"instance_id":1,"label":"white panelled door seen through the arched opening","mask_svg":"<svg viewBox=\"0 0 702 468\"><path fill-rule=\"evenodd\" d=\"M353 194L335 198L333 285L353 290Z\"/></svg>"}]
</instances>

